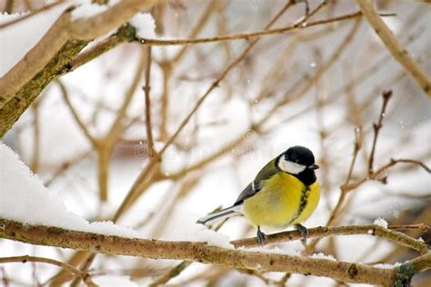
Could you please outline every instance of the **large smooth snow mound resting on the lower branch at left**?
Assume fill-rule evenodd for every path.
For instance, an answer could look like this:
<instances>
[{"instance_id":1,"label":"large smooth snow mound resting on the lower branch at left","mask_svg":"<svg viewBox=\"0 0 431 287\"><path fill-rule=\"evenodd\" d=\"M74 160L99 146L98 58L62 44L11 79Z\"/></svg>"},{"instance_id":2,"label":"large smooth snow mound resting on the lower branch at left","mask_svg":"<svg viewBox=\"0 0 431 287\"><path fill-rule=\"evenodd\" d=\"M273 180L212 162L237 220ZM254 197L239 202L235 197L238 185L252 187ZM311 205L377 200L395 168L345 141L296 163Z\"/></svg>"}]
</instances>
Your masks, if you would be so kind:
<instances>
[{"instance_id":1,"label":"large smooth snow mound resting on the lower branch at left","mask_svg":"<svg viewBox=\"0 0 431 287\"><path fill-rule=\"evenodd\" d=\"M0 218L88 233L141 237L112 222L89 223L67 211L62 200L46 189L37 175L4 143L0 143L0 159Z\"/></svg>"}]
</instances>

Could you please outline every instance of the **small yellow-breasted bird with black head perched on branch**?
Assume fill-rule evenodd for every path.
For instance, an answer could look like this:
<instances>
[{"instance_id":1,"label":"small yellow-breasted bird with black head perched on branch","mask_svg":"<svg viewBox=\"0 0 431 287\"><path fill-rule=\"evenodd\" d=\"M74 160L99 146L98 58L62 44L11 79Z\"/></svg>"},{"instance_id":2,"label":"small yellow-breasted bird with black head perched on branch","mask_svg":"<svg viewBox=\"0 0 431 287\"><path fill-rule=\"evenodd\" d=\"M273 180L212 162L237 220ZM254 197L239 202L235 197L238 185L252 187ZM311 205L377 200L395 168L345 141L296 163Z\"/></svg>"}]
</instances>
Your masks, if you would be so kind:
<instances>
[{"instance_id":1,"label":"small yellow-breasted bird with black head perched on branch","mask_svg":"<svg viewBox=\"0 0 431 287\"><path fill-rule=\"evenodd\" d=\"M286 229L295 226L306 241L307 229L301 223L316 210L320 185L316 178L319 166L314 154L296 145L271 160L225 209L209 213L196 223L209 226L220 220L244 215L257 228L257 242L264 246L266 234L261 226Z\"/></svg>"}]
</instances>

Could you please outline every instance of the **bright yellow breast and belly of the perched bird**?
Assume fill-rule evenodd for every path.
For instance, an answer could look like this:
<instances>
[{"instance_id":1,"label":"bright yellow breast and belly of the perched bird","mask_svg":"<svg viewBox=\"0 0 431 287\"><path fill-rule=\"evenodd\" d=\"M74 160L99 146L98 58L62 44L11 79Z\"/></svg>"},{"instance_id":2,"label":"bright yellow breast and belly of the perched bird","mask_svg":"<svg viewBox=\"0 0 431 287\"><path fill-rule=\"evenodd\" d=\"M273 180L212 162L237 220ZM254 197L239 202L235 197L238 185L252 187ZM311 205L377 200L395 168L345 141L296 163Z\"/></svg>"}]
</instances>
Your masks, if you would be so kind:
<instances>
[{"instance_id":1,"label":"bright yellow breast and belly of the perched bird","mask_svg":"<svg viewBox=\"0 0 431 287\"><path fill-rule=\"evenodd\" d=\"M293 175L277 173L260 192L245 200L243 212L255 226L286 228L306 221L315 211L319 197L317 182L306 187Z\"/></svg>"}]
</instances>

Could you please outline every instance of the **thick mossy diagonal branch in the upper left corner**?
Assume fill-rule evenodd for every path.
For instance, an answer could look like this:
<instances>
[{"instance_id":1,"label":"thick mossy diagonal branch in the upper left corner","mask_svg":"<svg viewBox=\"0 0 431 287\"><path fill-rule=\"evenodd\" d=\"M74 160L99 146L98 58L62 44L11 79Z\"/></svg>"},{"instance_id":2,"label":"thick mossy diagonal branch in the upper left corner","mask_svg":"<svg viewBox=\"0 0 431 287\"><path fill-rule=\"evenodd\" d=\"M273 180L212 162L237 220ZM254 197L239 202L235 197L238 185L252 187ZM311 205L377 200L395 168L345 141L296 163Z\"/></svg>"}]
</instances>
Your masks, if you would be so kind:
<instances>
[{"instance_id":1,"label":"thick mossy diagonal branch in the upper left corner","mask_svg":"<svg viewBox=\"0 0 431 287\"><path fill-rule=\"evenodd\" d=\"M157 0L125 0L98 15L73 21L69 8L25 57L0 78L0 138L42 92L62 74L89 41L123 25Z\"/></svg>"}]
</instances>

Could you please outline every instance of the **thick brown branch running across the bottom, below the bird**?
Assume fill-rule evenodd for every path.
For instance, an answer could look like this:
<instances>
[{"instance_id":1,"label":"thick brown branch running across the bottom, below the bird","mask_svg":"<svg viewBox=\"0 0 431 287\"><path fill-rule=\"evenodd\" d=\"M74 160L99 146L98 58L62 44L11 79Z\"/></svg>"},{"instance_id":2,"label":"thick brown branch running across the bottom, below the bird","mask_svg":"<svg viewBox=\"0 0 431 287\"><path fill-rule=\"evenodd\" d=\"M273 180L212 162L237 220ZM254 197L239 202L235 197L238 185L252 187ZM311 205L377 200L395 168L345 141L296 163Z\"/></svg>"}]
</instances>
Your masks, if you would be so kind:
<instances>
[{"instance_id":1,"label":"thick brown branch running across the bottom, below the bird","mask_svg":"<svg viewBox=\"0 0 431 287\"><path fill-rule=\"evenodd\" d=\"M212 263L266 272L296 272L326 276L342 282L361 282L386 286L396 284L400 280L399 275L406 269L412 271L407 278L407 282L409 282L413 275L429 269L431 265L429 260L431 253L429 252L412 262L405 262L399 267L381 269L362 263L226 249L210 246L205 242L167 242L75 232L57 227L17 223L5 219L0 219L0 226L2 226L0 237L31 244L113 255Z\"/></svg>"}]
</instances>

